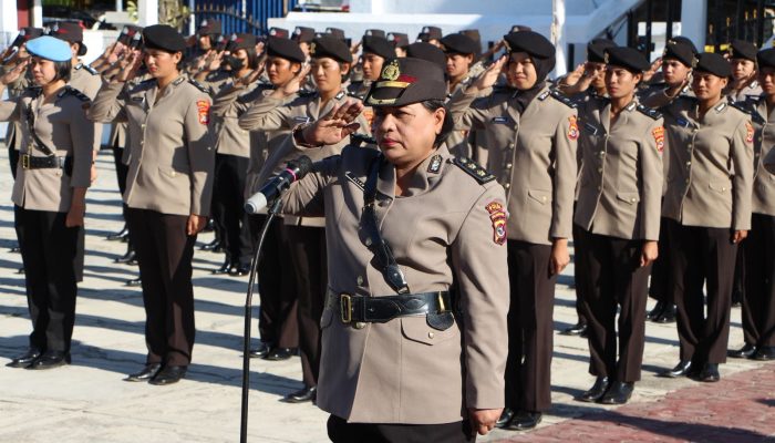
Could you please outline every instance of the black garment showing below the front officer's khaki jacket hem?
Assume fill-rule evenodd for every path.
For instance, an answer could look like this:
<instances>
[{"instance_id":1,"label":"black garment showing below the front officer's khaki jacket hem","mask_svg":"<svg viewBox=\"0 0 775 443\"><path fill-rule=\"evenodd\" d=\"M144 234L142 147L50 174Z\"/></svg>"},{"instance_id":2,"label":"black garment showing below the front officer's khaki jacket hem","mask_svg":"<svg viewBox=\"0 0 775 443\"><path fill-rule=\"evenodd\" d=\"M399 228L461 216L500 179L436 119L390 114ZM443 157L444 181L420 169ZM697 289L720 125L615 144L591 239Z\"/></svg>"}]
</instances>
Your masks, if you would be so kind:
<instances>
[{"instance_id":1,"label":"black garment showing below the front officer's khaki jacket hem","mask_svg":"<svg viewBox=\"0 0 775 443\"><path fill-rule=\"evenodd\" d=\"M475 442L467 420L444 424L348 423L329 416L329 439L334 443L468 443Z\"/></svg>"}]
</instances>

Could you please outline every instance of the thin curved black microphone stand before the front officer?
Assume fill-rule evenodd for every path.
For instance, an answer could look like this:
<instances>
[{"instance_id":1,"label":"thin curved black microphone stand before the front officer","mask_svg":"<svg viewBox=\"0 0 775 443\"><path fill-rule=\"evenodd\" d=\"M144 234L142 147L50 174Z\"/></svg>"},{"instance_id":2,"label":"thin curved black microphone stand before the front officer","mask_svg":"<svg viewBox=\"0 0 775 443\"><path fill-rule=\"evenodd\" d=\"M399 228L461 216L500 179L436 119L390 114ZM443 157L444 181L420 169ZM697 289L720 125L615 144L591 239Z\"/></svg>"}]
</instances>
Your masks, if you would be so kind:
<instances>
[{"instance_id":1,"label":"thin curved black microphone stand before the front officer","mask_svg":"<svg viewBox=\"0 0 775 443\"><path fill-rule=\"evenodd\" d=\"M258 260L261 257L261 248L264 247L264 240L269 231L269 225L271 225L275 217L280 213L282 208L282 200L276 198L272 202L271 207L267 212L268 217L264 222L261 227L261 233L258 237L258 245L256 246L256 253L252 257L252 262L250 264L250 277L248 278L248 292L245 299L245 343L242 347L242 409L241 409L241 421L239 426L239 442L247 443L248 441L248 392L250 391L250 321L252 320L252 293L256 282L256 274L258 269Z\"/></svg>"}]
</instances>

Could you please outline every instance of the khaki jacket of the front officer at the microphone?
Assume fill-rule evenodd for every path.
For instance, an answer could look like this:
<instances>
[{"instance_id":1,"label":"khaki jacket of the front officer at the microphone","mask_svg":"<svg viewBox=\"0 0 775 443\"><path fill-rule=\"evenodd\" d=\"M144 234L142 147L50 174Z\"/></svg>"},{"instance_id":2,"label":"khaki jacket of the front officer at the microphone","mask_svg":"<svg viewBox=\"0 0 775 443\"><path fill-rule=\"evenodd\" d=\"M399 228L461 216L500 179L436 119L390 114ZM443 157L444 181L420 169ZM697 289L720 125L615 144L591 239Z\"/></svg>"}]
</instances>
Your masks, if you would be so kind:
<instances>
[{"instance_id":1,"label":"khaki jacket of the front officer at the microphone","mask_svg":"<svg viewBox=\"0 0 775 443\"><path fill-rule=\"evenodd\" d=\"M285 194L283 210L326 216L329 286L335 293L395 295L360 228L363 183L376 156L347 147L320 162ZM480 184L440 147L396 197L395 168L382 165L375 213L412 292L455 287L462 312L446 330L424 316L355 329L326 308L318 406L350 422L437 424L467 418L467 408L504 405L509 282L503 187ZM464 370L465 368L465 370Z\"/></svg>"}]
</instances>

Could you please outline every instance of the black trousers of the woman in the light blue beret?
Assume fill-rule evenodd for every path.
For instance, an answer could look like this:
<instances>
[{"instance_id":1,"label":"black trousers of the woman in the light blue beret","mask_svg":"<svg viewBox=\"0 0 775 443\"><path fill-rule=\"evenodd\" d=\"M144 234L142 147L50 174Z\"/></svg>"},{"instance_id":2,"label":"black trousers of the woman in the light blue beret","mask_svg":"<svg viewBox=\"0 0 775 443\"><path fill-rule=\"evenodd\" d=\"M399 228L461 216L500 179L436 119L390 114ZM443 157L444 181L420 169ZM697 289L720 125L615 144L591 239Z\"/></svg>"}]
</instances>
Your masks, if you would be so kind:
<instances>
[{"instance_id":1,"label":"black trousers of the woman in the light blue beret","mask_svg":"<svg viewBox=\"0 0 775 443\"><path fill-rule=\"evenodd\" d=\"M66 213L13 207L32 319L30 347L70 352L75 324L75 245L82 227L66 227Z\"/></svg>"}]
</instances>

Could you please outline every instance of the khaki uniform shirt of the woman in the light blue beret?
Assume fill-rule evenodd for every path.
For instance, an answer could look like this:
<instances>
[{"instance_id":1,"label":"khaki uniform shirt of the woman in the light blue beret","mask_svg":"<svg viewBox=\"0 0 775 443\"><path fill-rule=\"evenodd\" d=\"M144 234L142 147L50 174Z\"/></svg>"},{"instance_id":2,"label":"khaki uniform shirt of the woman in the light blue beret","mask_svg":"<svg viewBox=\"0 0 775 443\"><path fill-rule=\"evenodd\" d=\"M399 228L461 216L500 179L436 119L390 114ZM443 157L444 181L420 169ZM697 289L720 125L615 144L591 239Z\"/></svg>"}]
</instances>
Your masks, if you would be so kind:
<instances>
[{"instance_id":1,"label":"khaki uniform shirt of the woman in the light blue beret","mask_svg":"<svg viewBox=\"0 0 775 443\"><path fill-rule=\"evenodd\" d=\"M58 157L72 157L72 176L64 168L24 169L17 165L11 199L25 209L66 213L74 187L91 184L92 141L94 124L83 110L89 97L65 86L53 100L45 101L39 87L28 89L14 101L0 102L0 121L20 123L18 137L21 155L46 157L33 142L27 119L28 109L34 115L34 133ZM20 162L21 163L21 162Z\"/></svg>"}]
</instances>

